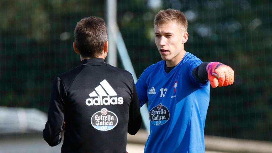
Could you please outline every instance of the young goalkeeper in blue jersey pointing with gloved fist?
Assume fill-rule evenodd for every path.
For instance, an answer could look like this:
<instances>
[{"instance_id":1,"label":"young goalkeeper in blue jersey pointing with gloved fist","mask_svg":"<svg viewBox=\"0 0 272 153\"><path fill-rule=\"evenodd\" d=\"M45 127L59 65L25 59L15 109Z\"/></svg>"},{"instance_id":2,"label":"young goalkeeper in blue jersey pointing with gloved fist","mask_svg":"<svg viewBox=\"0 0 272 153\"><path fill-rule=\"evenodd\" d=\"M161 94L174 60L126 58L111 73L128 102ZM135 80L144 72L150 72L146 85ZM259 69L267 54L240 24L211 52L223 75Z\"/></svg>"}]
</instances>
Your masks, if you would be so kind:
<instances>
[{"instance_id":1,"label":"young goalkeeper in blue jersey pointing with gloved fist","mask_svg":"<svg viewBox=\"0 0 272 153\"><path fill-rule=\"evenodd\" d=\"M219 62L202 62L184 50L187 19L177 10L155 16L155 44L162 61L141 74L136 89L140 106L148 102L151 133L146 153L205 152L204 125L210 85L233 83L232 68Z\"/></svg>"}]
</instances>

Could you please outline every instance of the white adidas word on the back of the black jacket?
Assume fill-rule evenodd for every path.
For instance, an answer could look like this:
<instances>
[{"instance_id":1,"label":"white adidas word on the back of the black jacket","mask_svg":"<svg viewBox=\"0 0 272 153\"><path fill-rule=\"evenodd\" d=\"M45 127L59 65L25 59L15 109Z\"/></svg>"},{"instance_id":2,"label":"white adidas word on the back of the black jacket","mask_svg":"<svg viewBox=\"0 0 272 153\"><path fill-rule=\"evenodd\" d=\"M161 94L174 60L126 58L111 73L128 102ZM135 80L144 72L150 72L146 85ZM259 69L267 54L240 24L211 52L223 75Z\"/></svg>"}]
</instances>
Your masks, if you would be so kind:
<instances>
[{"instance_id":1,"label":"white adidas word on the back of the black jacket","mask_svg":"<svg viewBox=\"0 0 272 153\"><path fill-rule=\"evenodd\" d=\"M102 98L102 96L97 96L97 98L88 98L85 101L86 105L93 106L93 105L116 105L116 104L123 104L124 100L123 97L111 97L107 96Z\"/></svg>"}]
</instances>

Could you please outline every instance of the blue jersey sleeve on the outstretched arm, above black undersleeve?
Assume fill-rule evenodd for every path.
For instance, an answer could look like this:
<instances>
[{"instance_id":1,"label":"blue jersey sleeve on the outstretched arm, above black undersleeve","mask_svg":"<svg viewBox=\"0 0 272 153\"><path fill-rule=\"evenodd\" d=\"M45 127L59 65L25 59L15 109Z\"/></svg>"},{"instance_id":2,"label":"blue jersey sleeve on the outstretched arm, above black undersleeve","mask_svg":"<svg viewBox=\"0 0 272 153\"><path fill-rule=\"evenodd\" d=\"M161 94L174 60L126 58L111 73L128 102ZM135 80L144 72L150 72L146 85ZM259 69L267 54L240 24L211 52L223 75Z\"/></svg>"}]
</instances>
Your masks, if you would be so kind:
<instances>
[{"instance_id":1,"label":"blue jersey sleeve on the outstretched arm, above black undersleeve","mask_svg":"<svg viewBox=\"0 0 272 153\"><path fill-rule=\"evenodd\" d=\"M197 66L199 66L201 63L202 63L202 61L200 61L200 60L191 61L188 68L187 68L187 74L189 75L189 78L190 78L193 85L195 85L198 88L205 88L205 87L207 87L207 85L209 85L209 81L206 81L204 83L198 82L198 80L196 80L192 74L193 69L196 68Z\"/></svg>"}]
</instances>

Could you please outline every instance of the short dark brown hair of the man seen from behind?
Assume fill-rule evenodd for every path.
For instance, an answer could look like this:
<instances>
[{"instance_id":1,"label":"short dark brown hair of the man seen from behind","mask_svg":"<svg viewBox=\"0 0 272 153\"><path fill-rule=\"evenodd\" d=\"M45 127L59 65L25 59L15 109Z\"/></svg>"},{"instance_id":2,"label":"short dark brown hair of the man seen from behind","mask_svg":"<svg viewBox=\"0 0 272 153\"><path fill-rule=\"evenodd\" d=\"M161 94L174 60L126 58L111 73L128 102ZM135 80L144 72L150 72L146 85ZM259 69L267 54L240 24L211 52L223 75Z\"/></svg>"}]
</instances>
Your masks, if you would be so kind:
<instances>
[{"instance_id":1,"label":"short dark brown hair of the man seen from behind","mask_svg":"<svg viewBox=\"0 0 272 153\"><path fill-rule=\"evenodd\" d=\"M108 40L107 26L103 19L90 16L81 19L74 29L74 41L83 57L97 57Z\"/></svg>"}]
</instances>

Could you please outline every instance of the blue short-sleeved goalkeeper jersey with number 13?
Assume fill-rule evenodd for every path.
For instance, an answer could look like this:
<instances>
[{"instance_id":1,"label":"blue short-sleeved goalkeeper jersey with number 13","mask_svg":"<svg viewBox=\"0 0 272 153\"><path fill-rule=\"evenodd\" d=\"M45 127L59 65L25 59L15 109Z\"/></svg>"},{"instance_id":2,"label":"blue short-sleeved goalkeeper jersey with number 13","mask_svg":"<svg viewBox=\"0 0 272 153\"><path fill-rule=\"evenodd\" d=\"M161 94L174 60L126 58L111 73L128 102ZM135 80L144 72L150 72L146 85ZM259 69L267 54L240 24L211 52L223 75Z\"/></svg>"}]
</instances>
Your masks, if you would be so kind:
<instances>
[{"instance_id":1,"label":"blue short-sleeved goalkeeper jersey with number 13","mask_svg":"<svg viewBox=\"0 0 272 153\"><path fill-rule=\"evenodd\" d=\"M148 102L150 135L145 153L204 153L204 125L210 83L198 83L192 70L202 61L186 52L168 74L165 61L149 66L136 89L140 106Z\"/></svg>"}]
</instances>

